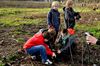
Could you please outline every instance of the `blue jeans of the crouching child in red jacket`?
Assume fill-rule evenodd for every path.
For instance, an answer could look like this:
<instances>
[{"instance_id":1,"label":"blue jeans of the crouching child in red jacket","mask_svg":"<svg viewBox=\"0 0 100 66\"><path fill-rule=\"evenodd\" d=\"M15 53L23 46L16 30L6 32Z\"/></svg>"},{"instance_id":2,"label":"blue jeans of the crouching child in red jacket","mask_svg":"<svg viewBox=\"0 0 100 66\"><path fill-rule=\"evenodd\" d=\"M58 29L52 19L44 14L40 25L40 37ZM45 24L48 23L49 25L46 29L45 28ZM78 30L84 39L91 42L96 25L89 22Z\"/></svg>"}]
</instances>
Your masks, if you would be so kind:
<instances>
[{"instance_id":1,"label":"blue jeans of the crouching child in red jacket","mask_svg":"<svg viewBox=\"0 0 100 66\"><path fill-rule=\"evenodd\" d=\"M47 60L46 49L43 45L33 46L26 49L26 51L30 55L36 55L37 53L39 53L41 55L42 62L45 62Z\"/></svg>"}]
</instances>

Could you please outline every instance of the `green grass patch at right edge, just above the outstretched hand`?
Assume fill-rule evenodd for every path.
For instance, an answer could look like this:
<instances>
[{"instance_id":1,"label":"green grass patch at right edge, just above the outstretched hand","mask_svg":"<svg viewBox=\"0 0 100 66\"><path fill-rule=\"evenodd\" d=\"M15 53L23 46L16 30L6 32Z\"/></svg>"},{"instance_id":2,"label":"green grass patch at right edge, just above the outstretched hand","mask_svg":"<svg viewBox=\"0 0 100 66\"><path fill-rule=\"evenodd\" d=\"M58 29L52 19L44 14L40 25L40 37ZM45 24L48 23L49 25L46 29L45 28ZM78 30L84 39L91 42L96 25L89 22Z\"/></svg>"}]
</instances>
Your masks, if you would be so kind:
<instances>
[{"instance_id":1,"label":"green grass patch at right edge, just above the outstretched hand","mask_svg":"<svg viewBox=\"0 0 100 66\"><path fill-rule=\"evenodd\" d=\"M92 33L96 37L100 37L100 21L94 22L93 24L88 23L88 24L76 24L76 29L77 30L84 30Z\"/></svg>"}]
</instances>

